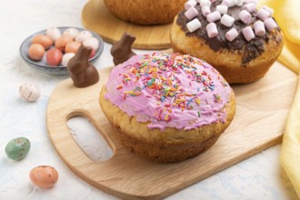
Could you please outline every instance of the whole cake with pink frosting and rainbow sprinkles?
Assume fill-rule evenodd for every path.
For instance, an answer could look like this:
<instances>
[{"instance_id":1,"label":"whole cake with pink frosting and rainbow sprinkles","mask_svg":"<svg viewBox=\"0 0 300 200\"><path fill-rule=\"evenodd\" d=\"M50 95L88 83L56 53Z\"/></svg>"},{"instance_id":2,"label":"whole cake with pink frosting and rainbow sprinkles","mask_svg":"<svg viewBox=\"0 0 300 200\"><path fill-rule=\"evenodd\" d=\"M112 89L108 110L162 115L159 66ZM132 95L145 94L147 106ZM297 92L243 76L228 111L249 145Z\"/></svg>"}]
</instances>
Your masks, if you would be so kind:
<instances>
[{"instance_id":1,"label":"whole cake with pink frosting and rainbow sprinkles","mask_svg":"<svg viewBox=\"0 0 300 200\"><path fill-rule=\"evenodd\" d=\"M235 115L230 85L190 55L134 55L112 69L99 101L128 149L164 163L214 145Z\"/></svg>"}]
</instances>

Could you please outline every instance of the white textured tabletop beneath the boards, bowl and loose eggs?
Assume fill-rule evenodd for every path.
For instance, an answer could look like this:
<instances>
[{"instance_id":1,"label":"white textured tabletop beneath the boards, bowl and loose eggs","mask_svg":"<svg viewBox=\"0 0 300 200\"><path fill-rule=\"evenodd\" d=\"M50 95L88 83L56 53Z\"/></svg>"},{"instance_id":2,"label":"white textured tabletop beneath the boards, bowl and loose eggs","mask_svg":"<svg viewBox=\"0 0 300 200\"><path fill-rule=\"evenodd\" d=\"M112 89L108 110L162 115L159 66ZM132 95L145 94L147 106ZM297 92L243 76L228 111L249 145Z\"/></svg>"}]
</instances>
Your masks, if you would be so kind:
<instances>
[{"instance_id":1,"label":"white textured tabletop beneath the boards, bowl and loose eggs","mask_svg":"<svg viewBox=\"0 0 300 200\"><path fill-rule=\"evenodd\" d=\"M51 26L81 27L85 0L0 0L0 199L117 199L77 177L55 152L46 133L45 109L55 85L67 76L45 75L21 59L19 46L37 31ZM105 44L97 68L113 65ZM140 51L135 51L139 53ZM37 85L41 92L35 103L18 95L25 82ZM89 155L103 159L109 155L100 146L99 135L80 118L69 122L78 143ZM24 160L15 162L5 155L5 145L15 137L25 136L31 150ZM93 139L91 139L93 138ZM103 154L97 154L102 151ZM167 199L297 199L295 191L279 165L280 145L246 159L225 171L192 185ZM37 165L52 165L59 180L52 189L32 185L29 172Z\"/></svg>"}]
</instances>

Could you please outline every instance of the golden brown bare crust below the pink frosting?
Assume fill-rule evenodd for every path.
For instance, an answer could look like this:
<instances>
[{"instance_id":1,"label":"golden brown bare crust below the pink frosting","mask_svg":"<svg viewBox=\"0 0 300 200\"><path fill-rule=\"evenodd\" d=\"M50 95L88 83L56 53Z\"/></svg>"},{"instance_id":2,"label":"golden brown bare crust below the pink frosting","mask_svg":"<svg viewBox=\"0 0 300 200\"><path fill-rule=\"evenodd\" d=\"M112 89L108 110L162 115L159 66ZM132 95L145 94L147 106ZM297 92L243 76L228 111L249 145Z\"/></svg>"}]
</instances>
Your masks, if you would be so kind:
<instances>
[{"instance_id":1,"label":"golden brown bare crust below the pink frosting","mask_svg":"<svg viewBox=\"0 0 300 200\"><path fill-rule=\"evenodd\" d=\"M214 145L235 115L235 94L232 91L230 101L225 106L225 123L203 125L188 131L167 127L161 132L157 128L149 129L147 123L139 123L135 116L125 114L105 98L106 92L106 87L103 86L100 105L123 144L137 155L164 163L185 160Z\"/></svg>"}]
</instances>

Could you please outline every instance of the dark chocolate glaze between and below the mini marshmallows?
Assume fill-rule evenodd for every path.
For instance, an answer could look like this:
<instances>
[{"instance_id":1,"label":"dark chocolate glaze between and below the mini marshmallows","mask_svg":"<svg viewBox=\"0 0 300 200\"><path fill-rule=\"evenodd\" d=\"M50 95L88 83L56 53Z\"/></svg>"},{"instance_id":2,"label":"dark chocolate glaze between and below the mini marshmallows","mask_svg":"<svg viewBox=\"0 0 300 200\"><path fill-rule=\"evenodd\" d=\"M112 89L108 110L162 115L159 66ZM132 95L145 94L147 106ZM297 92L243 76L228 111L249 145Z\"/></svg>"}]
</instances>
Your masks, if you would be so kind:
<instances>
[{"instance_id":1,"label":"dark chocolate glaze between and below the mini marshmallows","mask_svg":"<svg viewBox=\"0 0 300 200\"><path fill-rule=\"evenodd\" d=\"M222 0L216 0L215 3L212 3L210 7L211 12L214 12L216 9L216 5L221 5L221 3ZM239 6L228 7L227 15L231 15L235 18L234 25L232 25L231 27L227 27L225 25L222 25L220 20L216 21L215 25L219 34L213 38L209 38L206 32L206 25L208 25L209 22L206 20L206 17L202 15L200 5L196 5L195 8L199 13L197 18L201 22L201 28L199 28L193 33L190 33L186 28L186 24L189 22L189 20L185 17L185 10L178 15L176 23L177 25L181 26L183 31L185 31L185 35L197 36L199 38L205 39L205 43L209 45L210 48L213 49L215 52L220 51L222 49L228 49L234 51L238 50L240 53L244 53L242 65L246 65L252 59L255 59L255 57L263 54L263 52L265 51L264 42L268 43L269 40L275 40L277 43L280 43L282 40L282 36L277 36L280 32L280 28L277 25L278 31L273 32L271 34L271 32L265 30L265 35L255 35L254 39L252 39L251 41L246 41L242 30L248 25L252 26L258 20L258 18L256 17L257 11L251 14L251 22L248 25L246 25L238 18L238 14L242 11L242 7ZM232 28L235 28L239 35L235 38L235 40L230 42L226 40L225 34Z\"/></svg>"}]
</instances>

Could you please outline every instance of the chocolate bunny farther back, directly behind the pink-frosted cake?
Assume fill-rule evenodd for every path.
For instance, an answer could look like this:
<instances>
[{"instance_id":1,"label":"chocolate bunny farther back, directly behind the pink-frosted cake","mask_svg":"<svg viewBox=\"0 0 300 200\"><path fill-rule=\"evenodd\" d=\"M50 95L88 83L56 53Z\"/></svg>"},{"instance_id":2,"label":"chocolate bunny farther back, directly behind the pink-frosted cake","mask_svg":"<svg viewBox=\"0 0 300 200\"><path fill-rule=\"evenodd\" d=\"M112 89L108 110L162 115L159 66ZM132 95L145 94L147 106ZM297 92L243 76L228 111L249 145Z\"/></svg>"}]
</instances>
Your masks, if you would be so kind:
<instances>
[{"instance_id":1,"label":"chocolate bunny farther back, directly behind the pink-frosted cake","mask_svg":"<svg viewBox=\"0 0 300 200\"><path fill-rule=\"evenodd\" d=\"M121 39L112 46L110 53L114 57L115 65L124 63L130 57L136 55L131 49L131 46L134 44L134 42L135 36L128 35L125 32Z\"/></svg>"}]
</instances>

